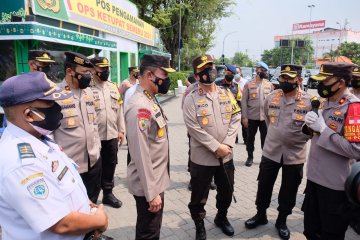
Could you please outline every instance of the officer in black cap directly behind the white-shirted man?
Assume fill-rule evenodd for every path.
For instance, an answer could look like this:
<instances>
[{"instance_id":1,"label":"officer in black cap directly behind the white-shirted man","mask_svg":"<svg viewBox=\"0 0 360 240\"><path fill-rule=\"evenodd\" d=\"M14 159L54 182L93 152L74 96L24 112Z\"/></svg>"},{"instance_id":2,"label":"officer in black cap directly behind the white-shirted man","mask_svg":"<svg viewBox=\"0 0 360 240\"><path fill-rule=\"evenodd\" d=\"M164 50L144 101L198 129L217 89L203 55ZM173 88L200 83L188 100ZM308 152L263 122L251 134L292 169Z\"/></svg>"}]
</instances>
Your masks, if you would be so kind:
<instances>
[{"instance_id":1,"label":"officer in black cap directly behind the white-shirted man","mask_svg":"<svg viewBox=\"0 0 360 240\"><path fill-rule=\"evenodd\" d=\"M80 53L65 52L65 55L65 79L59 87L74 95L57 101L64 118L53 135L65 153L79 166L88 196L96 203L101 190L101 145L93 93L88 88L93 65Z\"/></svg>"}]
</instances>

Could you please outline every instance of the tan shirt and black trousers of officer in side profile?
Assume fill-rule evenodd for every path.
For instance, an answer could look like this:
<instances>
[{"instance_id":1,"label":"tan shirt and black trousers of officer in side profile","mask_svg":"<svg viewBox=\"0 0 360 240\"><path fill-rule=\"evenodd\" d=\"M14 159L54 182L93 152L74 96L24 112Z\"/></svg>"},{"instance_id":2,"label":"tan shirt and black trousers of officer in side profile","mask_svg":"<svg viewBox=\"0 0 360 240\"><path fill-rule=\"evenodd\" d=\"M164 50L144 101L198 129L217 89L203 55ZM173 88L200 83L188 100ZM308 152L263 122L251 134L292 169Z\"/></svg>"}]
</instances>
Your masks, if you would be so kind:
<instances>
[{"instance_id":1,"label":"tan shirt and black trousers of officer in side profile","mask_svg":"<svg viewBox=\"0 0 360 240\"><path fill-rule=\"evenodd\" d=\"M166 117L157 100L140 85L125 106L125 123L131 161L127 168L129 192L137 209L136 239L159 239L164 191L170 185L169 139ZM162 207L148 211L160 195Z\"/></svg>"}]
</instances>

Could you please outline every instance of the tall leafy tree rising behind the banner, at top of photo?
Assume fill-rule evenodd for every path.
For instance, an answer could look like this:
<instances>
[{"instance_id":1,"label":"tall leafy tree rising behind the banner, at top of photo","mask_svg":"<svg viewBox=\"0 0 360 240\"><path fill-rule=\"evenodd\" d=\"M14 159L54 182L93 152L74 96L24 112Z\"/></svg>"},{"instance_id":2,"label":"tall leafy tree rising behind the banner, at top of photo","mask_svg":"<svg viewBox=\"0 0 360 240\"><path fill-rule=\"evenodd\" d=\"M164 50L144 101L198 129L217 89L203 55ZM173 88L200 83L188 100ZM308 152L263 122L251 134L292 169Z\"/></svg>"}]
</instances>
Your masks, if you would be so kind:
<instances>
[{"instance_id":1,"label":"tall leafy tree rising behind the banner, at top of photo","mask_svg":"<svg viewBox=\"0 0 360 240\"><path fill-rule=\"evenodd\" d=\"M182 60L188 64L193 56L205 53L214 39L215 23L230 14L233 0L133 0L139 17L160 30L160 37L175 66L179 47L179 13L184 44Z\"/></svg>"}]
</instances>

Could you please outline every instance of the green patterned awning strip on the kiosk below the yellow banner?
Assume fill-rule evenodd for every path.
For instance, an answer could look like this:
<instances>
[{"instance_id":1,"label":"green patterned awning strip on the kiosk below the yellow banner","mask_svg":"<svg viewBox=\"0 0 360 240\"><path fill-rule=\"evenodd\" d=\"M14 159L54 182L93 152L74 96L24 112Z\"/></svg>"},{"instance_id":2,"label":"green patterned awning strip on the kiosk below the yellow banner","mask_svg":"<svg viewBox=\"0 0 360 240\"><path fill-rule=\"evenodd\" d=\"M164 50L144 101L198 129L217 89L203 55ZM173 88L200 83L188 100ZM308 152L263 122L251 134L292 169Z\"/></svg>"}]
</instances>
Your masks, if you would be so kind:
<instances>
[{"instance_id":1,"label":"green patterned awning strip on the kiosk below the yellow banner","mask_svg":"<svg viewBox=\"0 0 360 240\"><path fill-rule=\"evenodd\" d=\"M88 34L73 32L37 22L0 23L0 40L34 39L87 48L114 51L117 43Z\"/></svg>"}]
</instances>

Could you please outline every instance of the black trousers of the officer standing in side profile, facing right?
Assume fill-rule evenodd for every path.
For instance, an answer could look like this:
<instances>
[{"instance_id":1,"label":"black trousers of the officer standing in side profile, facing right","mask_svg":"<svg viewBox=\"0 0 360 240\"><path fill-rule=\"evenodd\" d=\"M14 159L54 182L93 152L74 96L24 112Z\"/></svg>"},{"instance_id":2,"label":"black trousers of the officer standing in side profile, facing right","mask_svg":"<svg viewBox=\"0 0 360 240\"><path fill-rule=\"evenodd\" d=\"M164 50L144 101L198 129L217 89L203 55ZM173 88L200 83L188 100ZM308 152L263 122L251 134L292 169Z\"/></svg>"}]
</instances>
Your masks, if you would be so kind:
<instances>
[{"instance_id":1,"label":"black trousers of the officer standing in side profile, facing right","mask_svg":"<svg viewBox=\"0 0 360 240\"><path fill-rule=\"evenodd\" d=\"M160 229L162 223L163 209L164 209L164 193L160 194L162 200L162 207L159 212L149 212L150 207L145 197L135 196L136 201L136 236L135 239L159 239Z\"/></svg>"}]
</instances>

